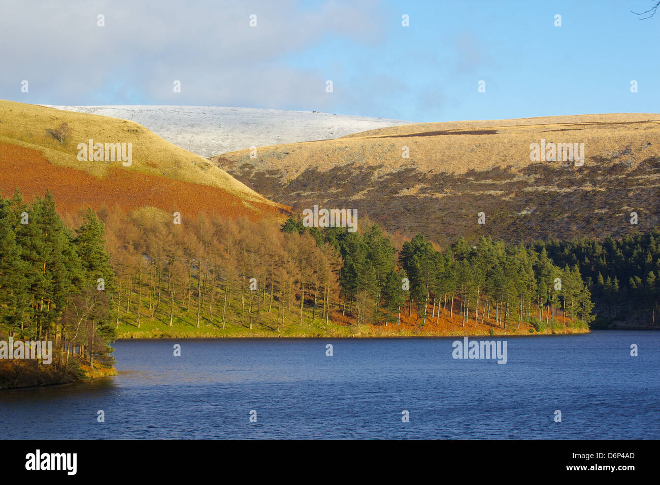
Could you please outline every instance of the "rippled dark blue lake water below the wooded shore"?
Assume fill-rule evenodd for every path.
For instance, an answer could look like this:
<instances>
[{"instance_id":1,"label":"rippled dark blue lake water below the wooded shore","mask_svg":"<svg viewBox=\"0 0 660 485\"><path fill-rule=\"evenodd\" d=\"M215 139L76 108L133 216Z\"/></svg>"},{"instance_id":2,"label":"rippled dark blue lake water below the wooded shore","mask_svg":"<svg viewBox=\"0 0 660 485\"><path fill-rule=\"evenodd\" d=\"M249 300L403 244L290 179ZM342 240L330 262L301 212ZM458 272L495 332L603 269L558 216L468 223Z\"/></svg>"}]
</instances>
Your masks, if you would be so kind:
<instances>
[{"instance_id":1,"label":"rippled dark blue lake water below the wooded shore","mask_svg":"<svg viewBox=\"0 0 660 485\"><path fill-rule=\"evenodd\" d=\"M19 439L660 438L660 332L498 339L504 365L452 358L459 339L120 341L119 375L0 391L0 424Z\"/></svg>"}]
</instances>

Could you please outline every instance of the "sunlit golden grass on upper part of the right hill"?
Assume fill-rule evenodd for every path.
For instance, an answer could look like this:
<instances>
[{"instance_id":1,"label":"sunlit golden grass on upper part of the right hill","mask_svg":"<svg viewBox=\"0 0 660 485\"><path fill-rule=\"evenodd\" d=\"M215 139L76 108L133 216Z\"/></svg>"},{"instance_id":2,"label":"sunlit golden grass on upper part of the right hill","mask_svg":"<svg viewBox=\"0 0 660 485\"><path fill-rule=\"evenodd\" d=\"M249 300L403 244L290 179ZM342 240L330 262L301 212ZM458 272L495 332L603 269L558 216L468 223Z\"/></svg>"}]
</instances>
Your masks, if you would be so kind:
<instances>
[{"instance_id":1,"label":"sunlit golden grass on upper part of the right hill","mask_svg":"<svg viewBox=\"0 0 660 485\"><path fill-rule=\"evenodd\" d=\"M249 163L260 171L275 170L281 179L295 179L308 168L325 172L352 163L380 166L375 177L403 168L459 175L496 167L524 168L532 163L529 145L541 139L546 143L584 143L587 166L601 158L629 160L634 166L660 155L660 115L614 113L420 123L335 140L263 146L255 159L249 158L249 150L240 150L212 160L220 166L233 164L238 168ZM409 158L402 157L404 146L409 149Z\"/></svg>"}]
</instances>

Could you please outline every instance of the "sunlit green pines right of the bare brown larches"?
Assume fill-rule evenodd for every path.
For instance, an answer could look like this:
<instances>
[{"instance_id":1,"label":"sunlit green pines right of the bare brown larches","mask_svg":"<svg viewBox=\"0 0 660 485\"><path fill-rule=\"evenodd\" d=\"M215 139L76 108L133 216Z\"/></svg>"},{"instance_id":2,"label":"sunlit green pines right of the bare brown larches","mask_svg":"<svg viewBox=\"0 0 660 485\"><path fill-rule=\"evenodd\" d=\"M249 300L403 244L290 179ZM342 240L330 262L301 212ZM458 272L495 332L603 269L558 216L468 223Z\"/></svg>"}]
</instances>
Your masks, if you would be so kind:
<instances>
[{"instance_id":1,"label":"sunlit green pines right of the bare brown larches","mask_svg":"<svg viewBox=\"0 0 660 485\"><path fill-rule=\"evenodd\" d=\"M416 312L418 325L460 315L462 325L494 317L506 329L522 321L537 328L561 315L562 325L593 321L591 292L578 265L554 265L545 249L505 245L481 238L468 245L459 238L438 251L422 234L395 250L373 224L364 232L342 228L305 228L293 218L285 232L310 232L317 243L330 243L341 253L341 310L355 313L358 323L399 323L401 311ZM559 312L558 312L559 310Z\"/></svg>"}]
</instances>

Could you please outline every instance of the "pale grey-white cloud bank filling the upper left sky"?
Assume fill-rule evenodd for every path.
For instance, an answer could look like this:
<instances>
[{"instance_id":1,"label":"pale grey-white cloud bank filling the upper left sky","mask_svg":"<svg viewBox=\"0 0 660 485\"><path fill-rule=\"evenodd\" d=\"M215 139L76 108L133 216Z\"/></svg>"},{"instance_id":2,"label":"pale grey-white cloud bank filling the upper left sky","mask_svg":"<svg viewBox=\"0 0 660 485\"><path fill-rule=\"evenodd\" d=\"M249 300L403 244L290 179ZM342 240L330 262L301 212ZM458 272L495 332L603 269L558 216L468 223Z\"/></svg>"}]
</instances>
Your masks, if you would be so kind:
<instances>
[{"instance_id":1,"label":"pale grey-white cloud bank filling the upper left sky","mask_svg":"<svg viewBox=\"0 0 660 485\"><path fill-rule=\"evenodd\" d=\"M105 26L96 25L97 15ZM249 15L257 27L249 27ZM2 98L49 104L148 103L327 108L325 79L284 57L327 36L378 43L379 2L5 2ZM30 96L20 96L20 81ZM182 92L172 82L182 81ZM315 109L316 109L315 108Z\"/></svg>"}]
</instances>

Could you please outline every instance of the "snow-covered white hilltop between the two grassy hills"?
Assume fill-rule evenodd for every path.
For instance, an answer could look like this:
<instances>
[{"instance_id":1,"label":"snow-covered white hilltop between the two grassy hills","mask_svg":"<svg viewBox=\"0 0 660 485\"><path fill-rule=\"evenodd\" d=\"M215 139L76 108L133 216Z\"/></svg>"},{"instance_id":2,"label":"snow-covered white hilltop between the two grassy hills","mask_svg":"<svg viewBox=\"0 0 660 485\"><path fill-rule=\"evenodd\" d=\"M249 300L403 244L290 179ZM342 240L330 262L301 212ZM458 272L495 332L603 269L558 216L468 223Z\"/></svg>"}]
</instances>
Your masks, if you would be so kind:
<instances>
[{"instance_id":1,"label":"snow-covered white hilltop between the two grassy hills","mask_svg":"<svg viewBox=\"0 0 660 485\"><path fill-rule=\"evenodd\" d=\"M174 145L209 157L250 146L327 140L411 121L216 106L51 106L129 119Z\"/></svg>"}]
</instances>

